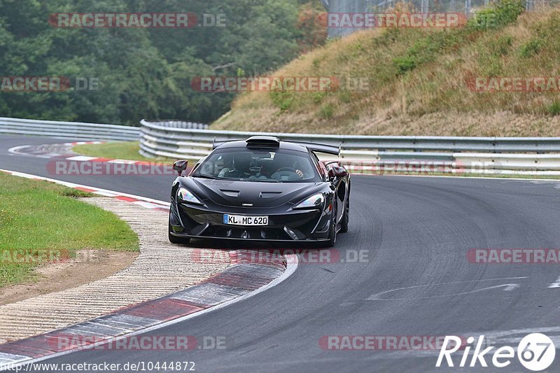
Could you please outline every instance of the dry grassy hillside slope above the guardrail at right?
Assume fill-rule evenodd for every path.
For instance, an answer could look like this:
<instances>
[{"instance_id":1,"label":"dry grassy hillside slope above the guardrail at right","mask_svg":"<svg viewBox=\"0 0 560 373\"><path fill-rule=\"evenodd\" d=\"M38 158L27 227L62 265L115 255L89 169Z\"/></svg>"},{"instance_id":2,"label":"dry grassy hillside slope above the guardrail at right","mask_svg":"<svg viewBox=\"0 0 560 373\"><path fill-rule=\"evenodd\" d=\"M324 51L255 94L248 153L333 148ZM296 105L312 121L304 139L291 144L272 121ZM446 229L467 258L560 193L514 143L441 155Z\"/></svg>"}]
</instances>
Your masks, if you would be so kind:
<instances>
[{"instance_id":1,"label":"dry grassy hillside slope above the guardrail at right","mask_svg":"<svg viewBox=\"0 0 560 373\"><path fill-rule=\"evenodd\" d=\"M472 89L481 77L560 76L560 10L514 18L500 27L375 29L332 41L269 75L367 78L368 90L248 92L211 128L560 136L554 86L546 92Z\"/></svg>"}]
</instances>

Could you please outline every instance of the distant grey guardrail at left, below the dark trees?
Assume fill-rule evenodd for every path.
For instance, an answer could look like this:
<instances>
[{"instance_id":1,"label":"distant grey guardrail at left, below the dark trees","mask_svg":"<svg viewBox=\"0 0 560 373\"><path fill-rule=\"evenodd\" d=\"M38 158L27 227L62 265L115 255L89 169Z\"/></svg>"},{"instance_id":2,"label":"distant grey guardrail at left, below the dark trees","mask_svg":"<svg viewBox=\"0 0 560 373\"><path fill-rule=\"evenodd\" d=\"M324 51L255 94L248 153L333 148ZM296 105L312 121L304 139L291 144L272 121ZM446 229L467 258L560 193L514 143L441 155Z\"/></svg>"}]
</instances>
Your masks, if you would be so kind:
<instances>
[{"instance_id":1,"label":"distant grey guardrail at left, below the dark trees","mask_svg":"<svg viewBox=\"0 0 560 373\"><path fill-rule=\"evenodd\" d=\"M0 133L87 140L138 141L140 138L139 127L17 118L0 118Z\"/></svg>"}]
</instances>

